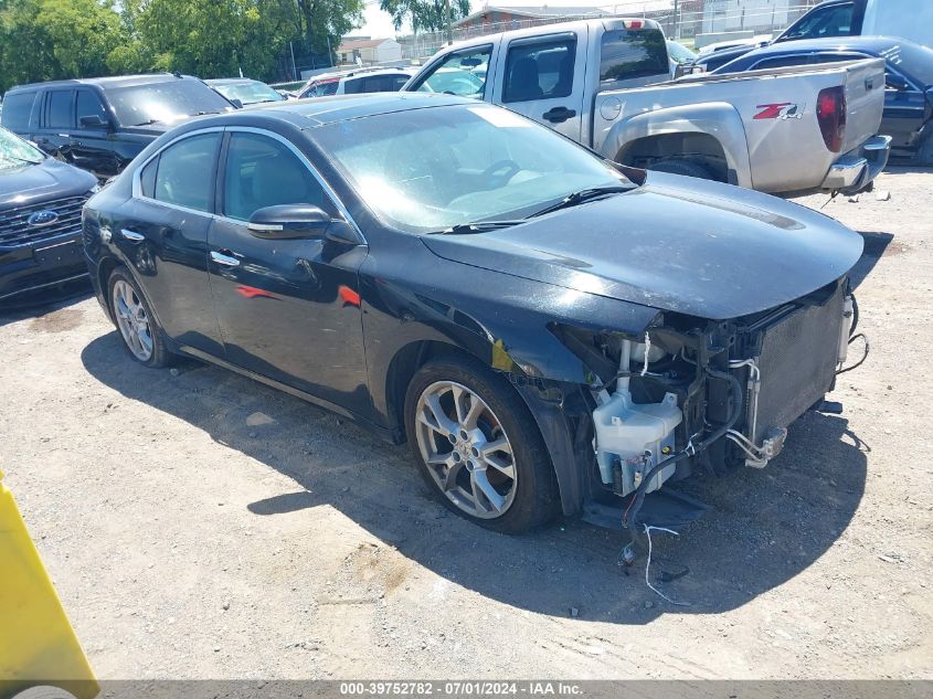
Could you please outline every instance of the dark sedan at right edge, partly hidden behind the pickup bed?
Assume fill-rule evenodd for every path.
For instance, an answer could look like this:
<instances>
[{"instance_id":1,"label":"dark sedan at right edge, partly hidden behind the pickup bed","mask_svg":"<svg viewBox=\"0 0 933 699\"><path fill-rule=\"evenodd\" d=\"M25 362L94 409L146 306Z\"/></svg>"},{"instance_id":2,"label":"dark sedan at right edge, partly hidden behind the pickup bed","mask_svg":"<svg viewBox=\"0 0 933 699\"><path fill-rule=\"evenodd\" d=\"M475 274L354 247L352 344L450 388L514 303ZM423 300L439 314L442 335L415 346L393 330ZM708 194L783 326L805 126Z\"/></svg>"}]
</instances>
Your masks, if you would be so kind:
<instances>
[{"instance_id":1,"label":"dark sedan at right edge, partly hidden behind the pickup bed","mask_svg":"<svg viewBox=\"0 0 933 699\"><path fill-rule=\"evenodd\" d=\"M713 73L740 73L884 59L884 114L880 133L893 157L933 165L933 49L893 36L845 36L775 43L750 51Z\"/></svg>"}]
</instances>

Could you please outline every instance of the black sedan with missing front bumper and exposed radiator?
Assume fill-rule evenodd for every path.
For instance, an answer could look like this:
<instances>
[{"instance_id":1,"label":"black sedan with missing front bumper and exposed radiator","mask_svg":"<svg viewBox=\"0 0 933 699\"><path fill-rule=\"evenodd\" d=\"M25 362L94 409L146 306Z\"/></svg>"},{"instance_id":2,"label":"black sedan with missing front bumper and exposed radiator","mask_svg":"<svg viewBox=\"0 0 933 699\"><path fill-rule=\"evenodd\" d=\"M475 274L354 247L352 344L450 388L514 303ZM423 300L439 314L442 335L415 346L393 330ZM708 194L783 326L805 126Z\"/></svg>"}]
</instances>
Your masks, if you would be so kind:
<instances>
[{"instance_id":1,"label":"black sedan with missing front bumper and exposed radiator","mask_svg":"<svg viewBox=\"0 0 933 699\"><path fill-rule=\"evenodd\" d=\"M693 467L766 464L833 386L862 248L415 93L180 126L84 226L134 359L197 357L407 441L448 507L509 532L634 527Z\"/></svg>"}]
</instances>

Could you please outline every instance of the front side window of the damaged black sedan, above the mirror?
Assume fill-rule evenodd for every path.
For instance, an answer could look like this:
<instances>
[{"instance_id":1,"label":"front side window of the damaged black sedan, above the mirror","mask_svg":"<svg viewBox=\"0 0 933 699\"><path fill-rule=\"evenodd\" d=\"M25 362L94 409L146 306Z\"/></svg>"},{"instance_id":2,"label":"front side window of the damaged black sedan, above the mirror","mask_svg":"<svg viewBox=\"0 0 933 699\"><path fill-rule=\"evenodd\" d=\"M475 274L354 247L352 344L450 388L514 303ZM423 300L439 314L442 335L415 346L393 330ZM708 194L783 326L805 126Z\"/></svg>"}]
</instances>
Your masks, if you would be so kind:
<instances>
[{"instance_id":1,"label":"front side window of the damaged black sedan, above the mirror","mask_svg":"<svg viewBox=\"0 0 933 699\"><path fill-rule=\"evenodd\" d=\"M224 214L248 221L256 210L278 204L333 209L320 182L287 146L268 136L234 131L226 152Z\"/></svg>"}]
</instances>

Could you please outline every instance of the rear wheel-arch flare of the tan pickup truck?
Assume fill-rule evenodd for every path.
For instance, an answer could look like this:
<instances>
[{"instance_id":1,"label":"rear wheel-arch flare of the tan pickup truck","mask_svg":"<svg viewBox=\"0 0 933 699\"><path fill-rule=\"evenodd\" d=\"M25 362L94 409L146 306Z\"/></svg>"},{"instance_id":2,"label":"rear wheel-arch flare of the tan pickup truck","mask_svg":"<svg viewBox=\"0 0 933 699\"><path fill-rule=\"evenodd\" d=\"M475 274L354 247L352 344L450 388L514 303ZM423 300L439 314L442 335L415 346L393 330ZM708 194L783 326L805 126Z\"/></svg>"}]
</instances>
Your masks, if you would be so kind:
<instances>
[{"instance_id":1,"label":"rear wheel-arch flare of the tan pickup truck","mask_svg":"<svg viewBox=\"0 0 933 699\"><path fill-rule=\"evenodd\" d=\"M735 184L753 188L749 144L742 117L731 104L713 102L643 112L612 125L603 155L616 158L635 141L665 134L704 134L719 142Z\"/></svg>"}]
</instances>

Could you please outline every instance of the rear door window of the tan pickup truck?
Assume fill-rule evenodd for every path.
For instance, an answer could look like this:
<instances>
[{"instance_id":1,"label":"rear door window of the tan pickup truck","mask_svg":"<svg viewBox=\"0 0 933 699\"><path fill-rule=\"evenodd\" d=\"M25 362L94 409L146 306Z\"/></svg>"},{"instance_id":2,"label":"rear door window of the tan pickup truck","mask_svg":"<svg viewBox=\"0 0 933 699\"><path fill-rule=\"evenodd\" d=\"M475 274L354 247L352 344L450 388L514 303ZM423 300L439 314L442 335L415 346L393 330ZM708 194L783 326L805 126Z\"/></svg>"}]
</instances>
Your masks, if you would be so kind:
<instances>
[{"instance_id":1,"label":"rear door window of the tan pickup truck","mask_svg":"<svg viewBox=\"0 0 933 699\"><path fill-rule=\"evenodd\" d=\"M575 39L510 47L502 102L566 97L573 91L575 59Z\"/></svg>"}]
</instances>

